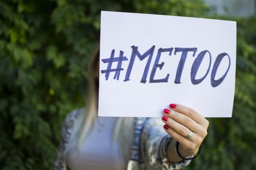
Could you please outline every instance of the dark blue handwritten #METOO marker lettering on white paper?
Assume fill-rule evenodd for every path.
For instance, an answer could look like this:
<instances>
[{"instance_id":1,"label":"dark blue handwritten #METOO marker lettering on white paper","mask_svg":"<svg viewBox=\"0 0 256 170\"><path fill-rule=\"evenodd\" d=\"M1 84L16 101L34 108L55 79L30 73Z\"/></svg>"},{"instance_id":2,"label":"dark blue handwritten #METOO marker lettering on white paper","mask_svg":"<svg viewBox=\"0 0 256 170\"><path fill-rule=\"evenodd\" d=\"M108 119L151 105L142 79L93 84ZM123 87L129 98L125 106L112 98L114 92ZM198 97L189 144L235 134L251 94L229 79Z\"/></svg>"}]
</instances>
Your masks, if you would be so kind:
<instances>
[{"instance_id":1,"label":"dark blue handwritten #METOO marker lettering on white paper","mask_svg":"<svg viewBox=\"0 0 256 170\"><path fill-rule=\"evenodd\" d=\"M126 70L125 79L123 81L131 80L130 75L131 75L131 72L132 72L132 68L133 68L133 64L134 64L136 56L139 58L140 61L142 61L143 59L148 57L147 63L146 63L145 68L144 68L144 72L142 74L142 78L140 80L141 83L145 84L146 79L147 79L147 75L148 75L148 71L149 71L149 66L150 66L151 60L153 58L155 45L150 47L142 55L140 54L140 52L138 50L138 47L136 47L135 45L131 46L131 48L132 48L132 54L131 54L131 58L130 58L130 61L129 61L129 65L128 65L127 70ZM151 70L150 77L149 77L149 83L160 83L160 82L166 82L167 83L168 82L170 74L167 74L164 78L161 78L161 79L154 79L154 76L156 74L157 68L159 67L159 69L161 70L162 67L164 66L164 62L161 62L159 64L161 54L163 52L169 52L169 56L171 56L172 51L173 51L173 48L159 48L158 49L158 53L157 53L153 68ZM180 58L180 61L179 61L178 67L177 67L174 83L175 84L180 84L181 83L181 75L182 75L182 71L183 71L183 68L184 68L186 58L191 55L189 52L193 52L192 57L195 57L196 52L197 52L197 48L196 47L194 47L194 48L177 48L176 47L175 50L174 50L174 55L177 55L177 52L181 52L181 58ZM120 51L119 57L114 57L114 54L115 54L115 50L113 49L112 52L111 52L110 58L102 59L103 63L108 63L107 70L101 70L102 74L105 73L106 80L108 80L110 72L115 72L114 79L119 80L120 71L124 70L123 68L121 68L122 61L128 60L126 57L123 57L123 54L124 54L123 51ZM204 56L206 54L209 54L208 69L206 70L206 73L203 77L201 77L199 79L196 79L198 69L199 69L199 67L200 67L200 65L201 65L201 63L204 59ZM227 68L226 72L224 73L224 75L221 78L219 78L218 80L215 80L217 70L220 66L220 63L221 63L222 59L224 59L224 57L228 57L228 60L229 60L228 68ZM191 80L192 84L194 84L194 85L200 84L206 78L206 76L210 72L211 60L212 60L211 59L211 53L208 50L204 50L204 51L202 51L198 54L198 56L195 58L192 66L191 66L190 80ZM116 69L111 68L113 62L118 62ZM213 68L212 68L212 72L211 72L211 86L212 87L217 87L224 81L224 79L225 79L225 77L226 77L226 75L229 71L230 63L231 63L230 57L227 53L221 53L217 56L217 58L215 59L215 62L213 64Z\"/></svg>"}]
</instances>

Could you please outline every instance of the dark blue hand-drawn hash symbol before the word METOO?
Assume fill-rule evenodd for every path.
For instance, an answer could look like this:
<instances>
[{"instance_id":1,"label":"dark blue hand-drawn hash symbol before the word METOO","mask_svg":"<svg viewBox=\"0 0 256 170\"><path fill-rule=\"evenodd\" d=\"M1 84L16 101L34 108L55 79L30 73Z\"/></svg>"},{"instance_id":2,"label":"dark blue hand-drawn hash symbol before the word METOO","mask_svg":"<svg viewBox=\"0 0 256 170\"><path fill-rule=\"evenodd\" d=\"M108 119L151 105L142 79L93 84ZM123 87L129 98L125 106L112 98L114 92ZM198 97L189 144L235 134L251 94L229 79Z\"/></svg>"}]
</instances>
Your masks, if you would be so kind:
<instances>
[{"instance_id":1,"label":"dark blue hand-drawn hash symbol before the word METOO","mask_svg":"<svg viewBox=\"0 0 256 170\"><path fill-rule=\"evenodd\" d=\"M123 70L123 68L121 68L122 61L128 60L126 57L123 57L123 51L120 51L119 57L114 57L114 54L115 54L115 50L113 49L111 52L110 58L101 60L103 61L103 63L108 63L107 70L101 70L101 73L106 73L105 74L106 80L108 80L110 72L116 72L114 79L117 78L117 80L119 80L120 71ZM116 69L111 69L113 62L118 62Z\"/></svg>"}]
</instances>

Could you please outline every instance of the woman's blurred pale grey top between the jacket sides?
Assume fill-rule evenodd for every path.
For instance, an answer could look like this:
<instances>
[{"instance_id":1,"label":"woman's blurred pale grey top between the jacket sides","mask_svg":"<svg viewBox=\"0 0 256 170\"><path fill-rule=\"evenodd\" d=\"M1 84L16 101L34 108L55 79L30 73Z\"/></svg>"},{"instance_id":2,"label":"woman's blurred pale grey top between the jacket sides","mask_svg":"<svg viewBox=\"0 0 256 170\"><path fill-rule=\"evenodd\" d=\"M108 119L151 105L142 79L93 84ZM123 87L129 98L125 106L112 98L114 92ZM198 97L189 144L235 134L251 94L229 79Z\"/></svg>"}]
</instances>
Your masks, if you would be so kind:
<instances>
[{"instance_id":1,"label":"woman's blurred pale grey top between the jacket sides","mask_svg":"<svg viewBox=\"0 0 256 170\"><path fill-rule=\"evenodd\" d=\"M79 151L77 144L67 154L67 164L72 170L125 170L128 160L118 152L117 142L112 142L112 132L117 117L98 117L95 128L91 127Z\"/></svg>"}]
</instances>

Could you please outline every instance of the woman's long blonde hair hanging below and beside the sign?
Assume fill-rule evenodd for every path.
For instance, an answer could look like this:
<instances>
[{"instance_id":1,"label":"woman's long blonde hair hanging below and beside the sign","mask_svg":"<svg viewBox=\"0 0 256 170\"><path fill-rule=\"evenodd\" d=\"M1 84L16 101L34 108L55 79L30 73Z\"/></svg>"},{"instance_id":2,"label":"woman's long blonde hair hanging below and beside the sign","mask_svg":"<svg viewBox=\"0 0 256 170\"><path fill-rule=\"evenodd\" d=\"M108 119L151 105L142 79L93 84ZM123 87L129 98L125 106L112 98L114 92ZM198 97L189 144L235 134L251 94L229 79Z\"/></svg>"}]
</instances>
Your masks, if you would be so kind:
<instances>
[{"instance_id":1,"label":"woman's long blonde hair hanging below and beside the sign","mask_svg":"<svg viewBox=\"0 0 256 170\"><path fill-rule=\"evenodd\" d=\"M78 149L80 150L81 145L86 135L88 135L90 127L96 125L97 113L98 113L98 84L96 82L96 68L99 62L99 44L97 45L88 69L88 81L89 81L89 92L87 97L87 104L85 110L85 116L79 131L78 137ZM134 118L132 117L119 117L113 132L113 142L117 141L119 151L127 158L129 157L129 151L133 142L134 133Z\"/></svg>"}]
</instances>

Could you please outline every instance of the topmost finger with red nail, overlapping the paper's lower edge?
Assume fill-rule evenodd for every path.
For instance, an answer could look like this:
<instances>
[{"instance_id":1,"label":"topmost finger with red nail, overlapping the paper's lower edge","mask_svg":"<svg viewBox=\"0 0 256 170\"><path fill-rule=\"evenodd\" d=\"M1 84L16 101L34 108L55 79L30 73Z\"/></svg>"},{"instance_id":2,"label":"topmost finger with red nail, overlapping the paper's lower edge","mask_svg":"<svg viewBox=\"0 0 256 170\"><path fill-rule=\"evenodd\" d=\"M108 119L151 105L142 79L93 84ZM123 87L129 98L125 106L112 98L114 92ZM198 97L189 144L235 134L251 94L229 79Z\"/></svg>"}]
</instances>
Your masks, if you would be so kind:
<instances>
[{"instance_id":1,"label":"topmost finger with red nail, overlapping the paper's lower edge","mask_svg":"<svg viewBox=\"0 0 256 170\"><path fill-rule=\"evenodd\" d=\"M205 124L206 119L201 114L199 114L198 112L196 112L195 110L193 110L187 106L183 106L183 105L177 104L177 103L172 103L172 104L170 104L170 109L175 110L181 114L187 115L188 117L190 117L191 119L193 119L195 122L197 122L200 125Z\"/></svg>"}]
</instances>

